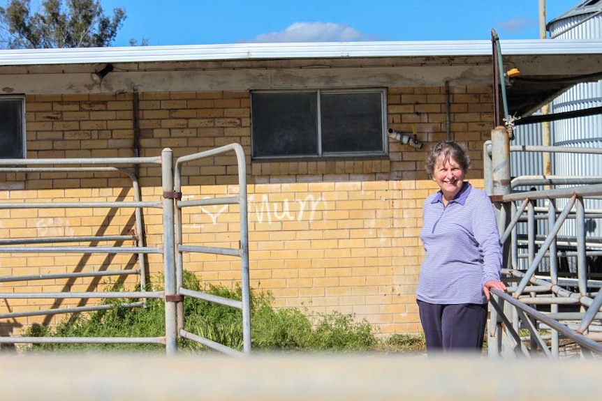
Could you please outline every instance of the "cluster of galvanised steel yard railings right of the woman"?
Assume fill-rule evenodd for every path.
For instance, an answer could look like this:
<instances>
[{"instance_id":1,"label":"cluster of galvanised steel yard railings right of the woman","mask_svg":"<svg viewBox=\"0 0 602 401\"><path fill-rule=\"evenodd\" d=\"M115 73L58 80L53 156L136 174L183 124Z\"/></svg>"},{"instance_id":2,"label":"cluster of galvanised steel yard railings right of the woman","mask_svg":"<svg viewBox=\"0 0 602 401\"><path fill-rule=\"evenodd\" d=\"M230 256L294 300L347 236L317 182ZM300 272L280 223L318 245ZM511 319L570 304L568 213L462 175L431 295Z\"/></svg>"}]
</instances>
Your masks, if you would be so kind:
<instances>
[{"instance_id":1,"label":"cluster of galvanised steel yard railings right of the woman","mask_svg":"<svg viewBox=\"0 0 602 401\"><path fill-rule=\"evenodd\" d=\"M506 130L492 130L485 143L485 189L494 202L504 246L503 280L507 294L494 291L490 301L490 356L545 355L558 358L564 344L577 345L581 355L602 355L602 280L588 268L588 257L602 255L600 239L585 231L585 200L602 196L599 177L525 176L511 180L511 151L600 154L602 149L557 146L510 146ZM518 191L520 186L546 186ZM568 188L558 188L564 186ZM549 188L549 189L548 189ZM538 207L536 202L547 207ZM557 204L564 203L563 207ZM559 236L573 220L575 234ZM545 225L536 225L536 222ZM526 225L519 235L517 226ZM538 233L541 227L547 232ZM536 227L538 229L536 229ZM575 260L573 271L561 268ZM527 335L528 333L528 335Z\"/></svg>"}]
</instances>

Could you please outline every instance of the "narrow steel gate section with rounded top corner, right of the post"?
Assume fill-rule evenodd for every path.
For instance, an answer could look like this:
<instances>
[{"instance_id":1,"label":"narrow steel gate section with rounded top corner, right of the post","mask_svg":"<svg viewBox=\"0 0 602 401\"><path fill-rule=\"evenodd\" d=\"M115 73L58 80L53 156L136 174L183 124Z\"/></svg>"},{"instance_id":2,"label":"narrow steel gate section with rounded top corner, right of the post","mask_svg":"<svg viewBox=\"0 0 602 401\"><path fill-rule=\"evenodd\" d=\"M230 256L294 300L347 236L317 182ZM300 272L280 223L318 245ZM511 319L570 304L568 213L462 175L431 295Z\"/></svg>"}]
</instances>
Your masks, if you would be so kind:
<instances>
[{"instance_id":1,"label":"narrow steel gate section with rounded top corner, right of the post","mask_svg":"<svg viewBox=\"0 0 602 401\"><path fill-rule=\"evenodd\" d=\"M193 200L181 200L182 197L182 167L186 163L195 162L203 158L209 158L217 156L222 153L235 152L237 160L237 174L238 174L238 195L230 197L215 197L212 199L193 199ZM178 333L183 338L194 340L200 344L210 347L217 351L221 351L225 354L240 356L243 354L250 354L251 352L251 299L250 299L250 285L249 285L249 222L247 217L247 163L244 158L244 151L240 144L229 144L221 146L210 151L200 152L189 156L178 158L175 163L175 183L174 191L177 194L177 200L175 202L175 241L176 241L176 280L177 280L177 294L180 296L178 305ZM240 239L238 248L216 248L207 246L196 246L186 245L182 243L182 210L207 205L227 205L236 204L239 207L240 216ZM212 294L206 294L204 292L193 291L191 289L184 288L183 272L184 262L182 255L184 252L200 252L209 253L214 255L227 255L233 257L240 257L241 264L241 286L242 286L242 300L233 300L224 298L221 296L214 296ZM219 344L210 339L203 338L200 335L191 333L184 330L184 316L183 316L183 296L192 296L194 298L203 299L213 303L219 303L221 305L227 305L231 308L237 308L242 311L242 335L243 335L243 350L242 353L237 349L232 349L226 345Z\"/></svg>"}]
</instances>

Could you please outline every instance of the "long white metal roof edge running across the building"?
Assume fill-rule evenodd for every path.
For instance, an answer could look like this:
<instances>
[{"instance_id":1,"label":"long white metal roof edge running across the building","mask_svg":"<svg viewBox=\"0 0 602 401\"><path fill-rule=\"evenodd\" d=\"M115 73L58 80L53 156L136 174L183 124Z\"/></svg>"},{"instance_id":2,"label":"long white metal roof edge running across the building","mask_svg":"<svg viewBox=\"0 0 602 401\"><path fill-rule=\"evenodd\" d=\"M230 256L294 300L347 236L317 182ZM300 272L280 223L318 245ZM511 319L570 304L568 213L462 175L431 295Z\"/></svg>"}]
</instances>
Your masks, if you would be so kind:
<instances>
[{"instance_id":1,"label":"long white metal roof edge running across the building","mask_svg":"<svg viewBox=\"0 0 602 401\"><path fill-rule=\"evenodd\" d=\"M600 39L501 40L500 44L504 55L602 54L602 40ZM0 50L0 66L340 57L483 56L490 54L492 54L491 40L235 43L230 45Z\"/></svg>"}]
</instances>

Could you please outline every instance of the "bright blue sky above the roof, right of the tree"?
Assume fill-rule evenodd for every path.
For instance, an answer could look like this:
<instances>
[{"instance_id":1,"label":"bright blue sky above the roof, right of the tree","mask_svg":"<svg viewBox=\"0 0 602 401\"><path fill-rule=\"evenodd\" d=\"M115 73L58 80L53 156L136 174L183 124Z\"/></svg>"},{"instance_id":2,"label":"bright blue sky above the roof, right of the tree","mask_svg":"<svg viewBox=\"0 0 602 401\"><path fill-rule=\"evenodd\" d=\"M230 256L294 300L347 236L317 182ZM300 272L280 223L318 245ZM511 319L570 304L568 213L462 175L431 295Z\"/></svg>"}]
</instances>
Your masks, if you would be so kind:
<instances>
[{"instance_id":1,"label":"bright blue sky above the roof, right of the tree","mask_svg":"<svg viewBox=\"0 0 602 401\"><path fill-rule=\"evenodd\" d=\"M582 0L545 0L546 20ZM538 0L101 0L126 10L113 43L205 45L539 38Z\"/></svg>"}]
</instances>

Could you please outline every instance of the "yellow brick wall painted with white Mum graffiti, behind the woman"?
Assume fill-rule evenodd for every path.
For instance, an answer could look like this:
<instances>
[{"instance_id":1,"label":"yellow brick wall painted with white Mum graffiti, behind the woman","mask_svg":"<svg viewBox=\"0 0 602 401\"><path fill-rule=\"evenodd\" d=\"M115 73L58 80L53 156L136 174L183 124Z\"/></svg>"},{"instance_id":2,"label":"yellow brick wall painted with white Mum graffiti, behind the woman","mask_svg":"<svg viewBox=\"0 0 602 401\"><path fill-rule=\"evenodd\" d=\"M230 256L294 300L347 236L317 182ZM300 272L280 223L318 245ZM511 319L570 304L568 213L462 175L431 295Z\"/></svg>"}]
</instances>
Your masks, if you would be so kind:
<instances>
[{"instance_id":1,"label":"yellow brick wall painted with white Mum graffiti, behind the woman","mask_svg":"<svg viewBox=\"0 0 602 401\"><path fill-rule=\"evenodd\" d=\"M414 290L423 249L418 239L422 204L435 189L423 161L430 146L452 139L469 146L469 179L482 186L482 147L492 128L489 87L451 87L447 121L443 87L388 88L388 125L415 132L422 150L391 141L388 158L251 161L249 92L139 93L140 156L175 158L237 142L247 156L251 287L269 291L277 307L354 313L383 335L418 333ZM27 96L28 158L132 157L133 93ZM234 154L184 167L183 199L237 194ZM161 168L140 167L142 198L160 202ZM7 175L2 202L133 200L131 182L115 173ZM131 209L0 210L3 238L127 234ZM161 211L146 208L147 245L161 246ZM184 243L236 247L234 206L186 209ZM133 245L124 243L124 245ZM151 273L163 270L159 255L147 257ZM130 255L0 254L1 276L138 268ZM232 257L184 255L184 268L207 282L240 280ZM115 281L117 279L113 279ZM0 292L89 291L104 280L57 279L1 283ZM126 284L134 276L124 278ZM57 308L81 300L1 300L0 313ZM20 326L52 323L50 316L0 321L3 335ZM59 317L60 319L60 317Z\"/></svg>"}]
</instances>

